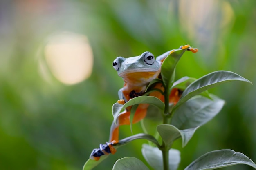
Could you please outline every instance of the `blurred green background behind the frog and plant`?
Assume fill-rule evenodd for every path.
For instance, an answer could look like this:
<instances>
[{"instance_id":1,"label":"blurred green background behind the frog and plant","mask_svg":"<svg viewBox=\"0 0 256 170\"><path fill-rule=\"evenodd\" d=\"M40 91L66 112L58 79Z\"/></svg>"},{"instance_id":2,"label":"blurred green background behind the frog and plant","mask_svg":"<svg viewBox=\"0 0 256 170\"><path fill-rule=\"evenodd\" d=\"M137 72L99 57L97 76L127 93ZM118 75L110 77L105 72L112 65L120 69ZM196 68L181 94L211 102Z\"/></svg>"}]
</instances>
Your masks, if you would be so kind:
<instances>
[{"instance_id":1,"label":"blurred green background behind the frog and plant","mask_svg":"<svg viewBox=\"0 0 256 170\"><path fill-rule=\"evenodd\" d=\"M123 85L115 57L158 56L185 44L199 51L183 55L177 79L228 70L256 84L256 1L1 0L0 169L81 170L92 149L108 141ZM210 92L226 104L185 148L175 143L179 170L218 149L256 162L255 85L232 82ZM120 133L131 135L129 127ZM95 170L127 156L145 162L143 142L119 148Z\"/></svg>"}]
</instances>

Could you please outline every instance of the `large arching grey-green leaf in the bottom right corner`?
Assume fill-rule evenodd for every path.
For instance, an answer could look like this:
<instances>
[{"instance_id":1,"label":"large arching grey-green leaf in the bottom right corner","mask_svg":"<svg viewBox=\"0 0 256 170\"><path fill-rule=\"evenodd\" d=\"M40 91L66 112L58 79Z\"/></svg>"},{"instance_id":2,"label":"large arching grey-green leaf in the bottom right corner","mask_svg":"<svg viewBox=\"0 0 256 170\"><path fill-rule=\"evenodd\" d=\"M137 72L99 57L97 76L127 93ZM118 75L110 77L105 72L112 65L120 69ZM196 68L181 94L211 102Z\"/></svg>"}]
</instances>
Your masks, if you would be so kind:
<instances>
[{"instance_id":1,"label":"large arching grey-green leaf in the bottom right corner","mask_svg":"<svg viewBox=\"0 0 256 170\"><path fill-rule=\"evenodd\" d=\"M215 150L202 155L185 170L213 170L237 164L246 164L256 169L255 163L242 153L233 150Z\"/></svg>"}]
</instances>

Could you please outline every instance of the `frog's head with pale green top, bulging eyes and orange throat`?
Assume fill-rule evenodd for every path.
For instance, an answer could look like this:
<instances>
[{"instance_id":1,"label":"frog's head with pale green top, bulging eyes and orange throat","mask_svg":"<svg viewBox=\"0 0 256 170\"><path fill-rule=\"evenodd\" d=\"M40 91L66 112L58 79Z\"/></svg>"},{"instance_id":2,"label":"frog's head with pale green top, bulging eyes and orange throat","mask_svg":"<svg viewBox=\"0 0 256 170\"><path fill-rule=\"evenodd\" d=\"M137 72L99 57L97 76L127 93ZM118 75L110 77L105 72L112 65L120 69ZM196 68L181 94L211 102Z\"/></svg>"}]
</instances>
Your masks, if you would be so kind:
<instances>
[{"instance_id":1,"label":"frog's head with pale green top, bulging eyes and orange throat","mask_svg":"<svg viewBox=\"0 0 256 170\"><path fill-rule=\"evenodd\" d=\"M127 83L141 85L157 78L160 71L160 64L150 52L144 52L136 57L117 57L113 62L117 74Z\"/></svg>"}]
</instances>

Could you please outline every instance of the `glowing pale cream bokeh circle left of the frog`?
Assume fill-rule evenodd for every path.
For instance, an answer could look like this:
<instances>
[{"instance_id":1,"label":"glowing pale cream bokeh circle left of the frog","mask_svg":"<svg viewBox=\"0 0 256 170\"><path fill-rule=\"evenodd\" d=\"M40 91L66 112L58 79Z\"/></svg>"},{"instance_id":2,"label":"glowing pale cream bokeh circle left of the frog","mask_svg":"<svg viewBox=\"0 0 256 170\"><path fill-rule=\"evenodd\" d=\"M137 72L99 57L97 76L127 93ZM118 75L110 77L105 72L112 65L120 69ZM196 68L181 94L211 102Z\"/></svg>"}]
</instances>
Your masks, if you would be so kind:
<instances>
[{"instance_id":1,"label":"glowing pale cream bokeh circle left of the frog","mask_svg":"<svg viewBox=\"0 0 256 170\"><path fill-rule=\"evenodd\" d=\"M53 35L44 52L50 71L64 84L79 83L92 73L92 49L84 35L67 32Z\"/></svg>"}]
</instances>

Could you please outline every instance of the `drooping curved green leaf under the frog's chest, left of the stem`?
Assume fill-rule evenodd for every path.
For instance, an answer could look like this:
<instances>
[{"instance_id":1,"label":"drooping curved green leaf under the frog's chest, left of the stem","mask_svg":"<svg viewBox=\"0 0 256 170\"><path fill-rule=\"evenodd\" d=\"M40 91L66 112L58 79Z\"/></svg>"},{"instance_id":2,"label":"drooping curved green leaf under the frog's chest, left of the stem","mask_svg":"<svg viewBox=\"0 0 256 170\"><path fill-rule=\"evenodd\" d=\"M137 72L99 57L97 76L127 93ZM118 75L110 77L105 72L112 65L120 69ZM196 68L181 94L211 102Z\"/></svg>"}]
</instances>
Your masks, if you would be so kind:
<instances>
[{"instance_id":1,"label":"drooping curved green leaf under the frog's chest, left of the stem","mask_svg":"<svg viewBox=\"0 0 256 170\"><path fill-rule=\"evenodd\" d=\"M119 115L119 113L122 109L127 108L128 106L135 105L135 104L143 104L143 103L151 104L153 106L156 106L157 108L159 108L159 110L164 112L164 103L160 99L158 99L157 97L154 97L154 96L138 96L138 97L135 97L133 99L130 99L124 105L119 104L119 103L113 104L112 113L113 113L113 117L114 117L114 122L116 122L117 117L118 117L118 115Z\"/></svg>"}]
</instances>

